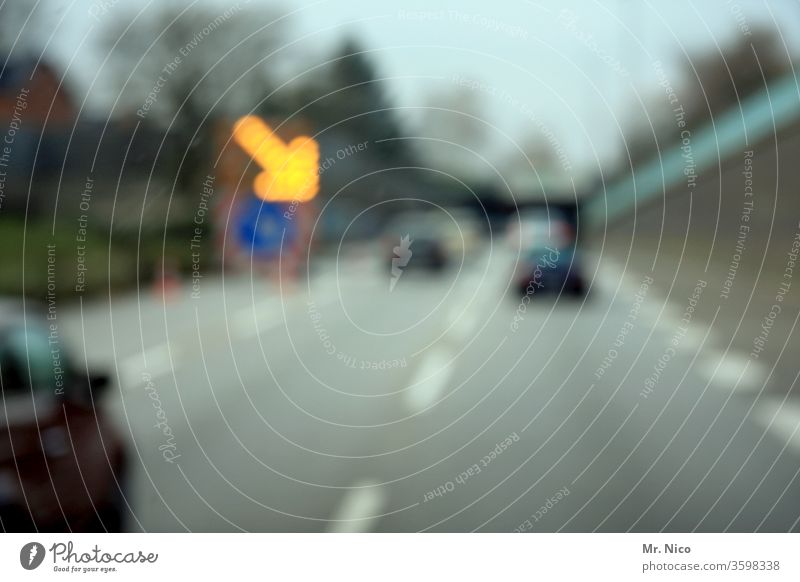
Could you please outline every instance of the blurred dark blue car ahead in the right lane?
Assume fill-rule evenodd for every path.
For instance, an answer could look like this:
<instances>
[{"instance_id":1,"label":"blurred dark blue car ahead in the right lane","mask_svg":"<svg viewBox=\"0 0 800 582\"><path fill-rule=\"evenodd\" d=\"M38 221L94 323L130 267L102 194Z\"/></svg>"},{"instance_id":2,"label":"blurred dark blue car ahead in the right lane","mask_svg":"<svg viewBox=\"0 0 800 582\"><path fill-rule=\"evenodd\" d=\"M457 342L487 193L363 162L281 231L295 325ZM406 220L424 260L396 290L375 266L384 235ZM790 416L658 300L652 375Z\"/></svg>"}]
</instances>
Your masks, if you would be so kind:
<instances>
[{"instance_id":1,"label":"blurred dark blue car ahead in the right lane","mask_svg":"<svg viewBox=\"0 0 800 582\"><path fill-rule=\"evenodd\" d=\"M563 213L552 208L520 213L509 225L509 238L520 249L514 278L521 295L586 293L575 228Z\"/></svg>"}]
</instances>

